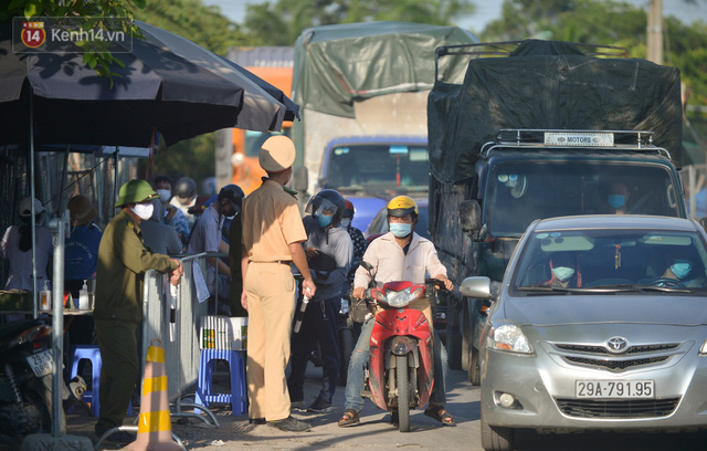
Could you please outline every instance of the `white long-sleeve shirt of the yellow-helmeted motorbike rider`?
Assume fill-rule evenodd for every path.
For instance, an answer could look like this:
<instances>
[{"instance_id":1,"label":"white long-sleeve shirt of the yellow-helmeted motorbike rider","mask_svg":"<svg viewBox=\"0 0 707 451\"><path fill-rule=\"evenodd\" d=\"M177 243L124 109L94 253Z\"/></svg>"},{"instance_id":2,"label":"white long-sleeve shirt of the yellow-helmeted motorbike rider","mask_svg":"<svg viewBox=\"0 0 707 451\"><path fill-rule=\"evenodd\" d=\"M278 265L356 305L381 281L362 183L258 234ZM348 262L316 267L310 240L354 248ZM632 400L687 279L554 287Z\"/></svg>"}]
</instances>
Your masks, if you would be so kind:
<instances>
[{"instance_id":1,"label":"white long-sleeve shirt of the yellow-helmeted motorbike rider","mask_svg":"<svg viewBox=\"0 0 707 451\"><path fill-rule=\"evenodd\" d=\"M424 283L424 280L440 274L446 276L446 268L440 262L437 251L432 241L412 233L412 241L405 254L395 241L395 237L388 232L374 239L363 254L363 261L373 266L371 273L377 286L386 282L410 281ZM426 276L425 276L426 275ZM368 287L370 276L362 266L356 271L354 287Z\"/></svg>"}]
</instances>

